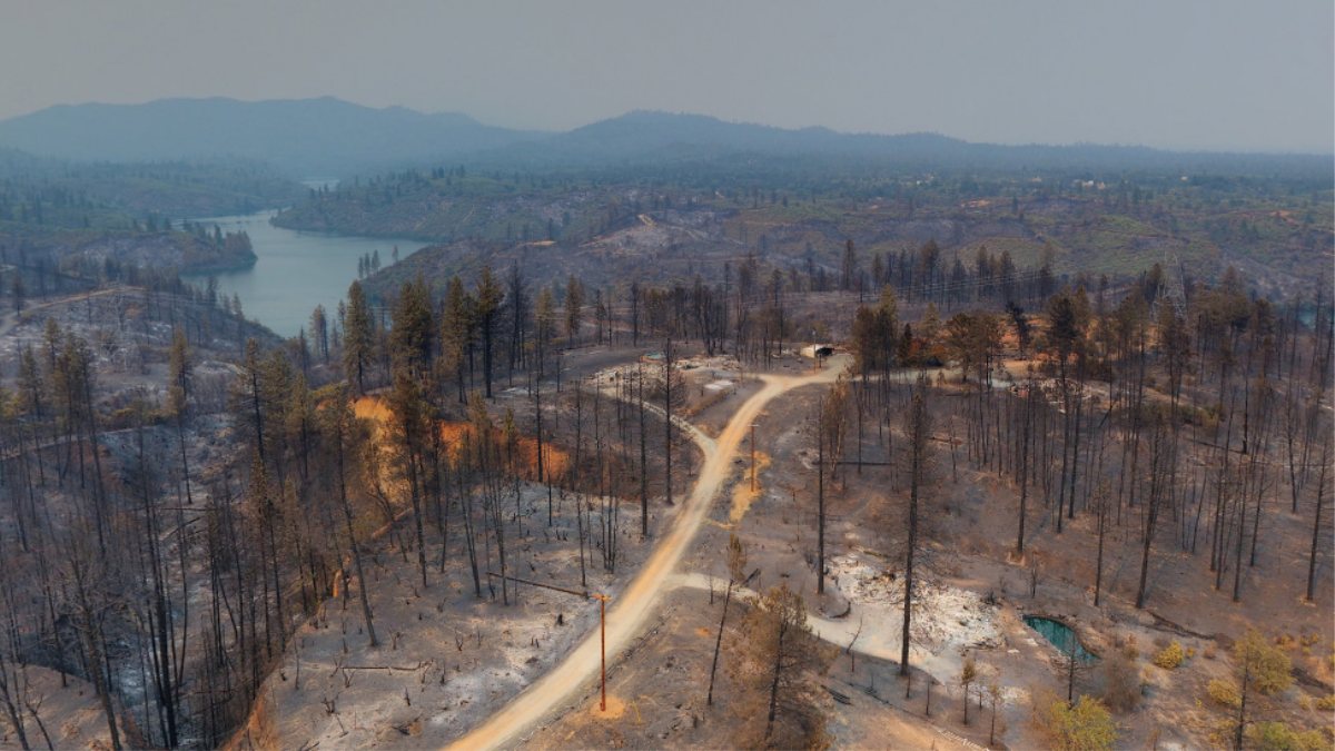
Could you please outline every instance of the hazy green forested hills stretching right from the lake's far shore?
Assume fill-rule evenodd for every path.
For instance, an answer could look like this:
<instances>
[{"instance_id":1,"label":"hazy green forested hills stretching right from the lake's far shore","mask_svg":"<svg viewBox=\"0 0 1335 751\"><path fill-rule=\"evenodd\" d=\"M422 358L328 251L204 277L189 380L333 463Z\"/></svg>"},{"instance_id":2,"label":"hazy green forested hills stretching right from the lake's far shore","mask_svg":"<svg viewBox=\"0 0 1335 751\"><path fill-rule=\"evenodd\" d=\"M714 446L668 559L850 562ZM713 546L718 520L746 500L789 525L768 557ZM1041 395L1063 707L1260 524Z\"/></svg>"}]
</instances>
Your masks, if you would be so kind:
<instances>
[{"instance_id":1,"label":"hazy green forested hills stretching right from the lake's far shore","mask_svg":"<svg viewBox=\"0 0 1335 751\"><path fill-rule=\"evenodd\" d=\"M916 254L934 241L948 278L983 246L1016 266L1047 258L1056 274L1133 274L1160 263L1218 279L1234 265L1258 290L1280 294L1311 295L1315 271L1335 273L1335 176L1077 171L1020 179L826 167L828 176L770 175L764 188L730 162L634 182L438 167L315 191L276 222L442 243L398 269L390 287L418 270L431 277L521 262L535 278L577 273L623 290L635 274L685 283L748 254L834 274L848 239L868 257ZM854 282L876 287L870 278Z\"/></svg>"}]
</instances>

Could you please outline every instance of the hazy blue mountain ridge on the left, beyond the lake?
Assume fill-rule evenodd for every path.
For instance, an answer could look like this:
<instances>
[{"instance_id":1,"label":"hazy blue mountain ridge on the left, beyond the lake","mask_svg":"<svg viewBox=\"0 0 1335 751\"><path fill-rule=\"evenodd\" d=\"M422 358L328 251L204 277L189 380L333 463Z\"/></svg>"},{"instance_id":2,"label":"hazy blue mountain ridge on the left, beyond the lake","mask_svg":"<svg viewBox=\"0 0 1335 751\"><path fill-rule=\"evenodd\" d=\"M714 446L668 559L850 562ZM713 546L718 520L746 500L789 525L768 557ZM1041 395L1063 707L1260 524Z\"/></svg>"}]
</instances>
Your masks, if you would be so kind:
<instances>
[{"instance_id":1,"label":"hazy blue mountain ridge on the left, beyond the lake","mask_svg":"<svg viewBox=\"0 0 1335 751\"><path fill-rule=\"evenodd\" d=\"M84 162L240 156L294 176L418 164L545 135L485 126L457 112L374 110L330 96L63 104L0 122L0 144L43 156Z\"/></svg>"}]
</instances>

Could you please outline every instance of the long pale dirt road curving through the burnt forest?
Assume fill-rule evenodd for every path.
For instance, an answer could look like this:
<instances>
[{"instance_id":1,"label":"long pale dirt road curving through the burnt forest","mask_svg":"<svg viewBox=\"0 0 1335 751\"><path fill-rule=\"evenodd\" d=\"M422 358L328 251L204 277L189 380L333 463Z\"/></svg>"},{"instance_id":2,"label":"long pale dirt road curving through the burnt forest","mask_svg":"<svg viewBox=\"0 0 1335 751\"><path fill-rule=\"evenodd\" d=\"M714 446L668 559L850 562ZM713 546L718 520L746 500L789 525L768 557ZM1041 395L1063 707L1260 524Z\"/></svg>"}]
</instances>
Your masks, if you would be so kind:
<instances>
[{"instance_id":1,"label":"long pale dirt road curving through the burnt forest","mask_svg":"<svg viewBox=\"0 0 1335 751\"><path fill-rule=\"evenodd\" d=\"M737 409L718 438L700 442L701 450L705 453L705 464L701 466L700 478L696 481L677 524L659 539L658 548L607 611L609 655L617 655L625 649L649 623L659 597L670 588L673 572L694 543L701 524L709 516L718 489L732 473L733 454L760 410L770 400L788 390L810 384L833 382L846 366L848 359L838 358L832 359L824 370L809 376L761 376L765 388ZM449 751L481 751L505 748L513 744L549 716L553 710L566 706L578 694L586 691L598 679L599 661L598 632L594 631L551 672L538 679L482 726L446 748Z\"/></svg>"}]
</instances>

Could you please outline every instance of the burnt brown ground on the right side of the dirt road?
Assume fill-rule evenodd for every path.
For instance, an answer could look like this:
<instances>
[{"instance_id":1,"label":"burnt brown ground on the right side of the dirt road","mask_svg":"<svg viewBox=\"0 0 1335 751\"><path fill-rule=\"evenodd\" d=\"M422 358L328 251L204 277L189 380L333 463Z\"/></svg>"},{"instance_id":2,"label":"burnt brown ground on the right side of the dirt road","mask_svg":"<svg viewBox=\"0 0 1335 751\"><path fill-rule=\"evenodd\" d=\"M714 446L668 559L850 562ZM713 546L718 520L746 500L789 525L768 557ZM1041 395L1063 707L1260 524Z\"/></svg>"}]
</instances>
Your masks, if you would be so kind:
<instances>
[{"instance_id":1,"label":"burnt brown ground on the right side of the dirt road","mask_svg":"<svg viewBox=\"0 0 1335 751\"><path fill-rule=\"evenodd\" d=\"M745 461L736 462L737 486L716 500L712 525L706 528L690 559L689 572L710 576L716 588L724 585L724 549L728 535L737 532L748 544L748 568L758 571L760 585L781 580L806 597L813 613L813 627L834 628L837 616L850 611L848 619L860 619L845 627L861 627L854 643L857 672L852 659L841 652L826 686L848 699L832 702L832 731L837 748L952 748L964 747L943 735L949 732L985 746L988 740L987 706L984 712L963 724L961 691L957 676L963 655L980 664L980 672L996 676L1005 688L999 708L999 736L1011 748L1035 748L1041 742L1035 735L1031 718L1032 698L1044 691L1065 695L1065 673L1057 649L1024 624L1024 615L1045 615L1071 624L1081 641L1096 653L1109 655L1124 644L1133 644L1139 653L1137 669L1143 680L1143 702L1128 715L1119 716L1124 738L1119 747L1139 748L1157 732L1160 748L1211 748L1223 711L1206 698L1206 684L1227 679L1227 659L1232 639L1248 625L1288 645L1294 660L1295 687L1267 704L1258 719L1282 719L1299 727L1328 727L1331 716L1311 707L1311 702L1335 691L1335 675L1327 660L1335 651L1335 619L1330 603L1335 601L1335 581L1320 580L1318 604L1303 601L1306 551L1310 544L1310 520L1295 517L1279 500L1267 508L1263 543L1255 567L1244 567L1242 603L1231 601L1231 587L1214 588L1215 575L1208 571L1208 548L1191 555L1181 540L1185 520L1167 521L1156 537L1151 557L1151 593L1147 608L1133 607L1140 565L1140 540L1136 510L1124 509L1121 525L1109 533L1105 551L1104 593L1093 607L1093 561L1096 537L1092 514L1077 513L1059 536L1053 529L1051 509L1041 496L1031 496L1027 560L1012 553L1015 547L1017 489L995 473L967 468L964 450L959 452L952 472L949 420L939 416L939 472L934 493L949 508L936 532L936 555L926 575L933 585L947 591L992 596L997 639L985 644L952 640L949 633L932 635L944 644L936 653L914 653L917 688L904 699L904 683L897 671L897 637L881 639L877 632L896 631L900 609L857 604L852 609L846 587L828 581L828 593L816 593L816 502L812 441L806 424L814 409L818 388L793 392L772 402L758 422L758 450L762 454L758 473L760 492L750 497ZM939 409L944 409L941 404ZM706 420L709 413L701 416ZM856 434L856 425L850 426ZM956 425L963 430L963 422ZM886 437L890 434L886 433ZM884 461L886 448L874 426L865 426L865 461ZM745 446L744 446L745 448ZM850 450L845 448L844 456ZM897 531L890 518L898 494L893 489L892 468L841 466L830 494L828 561L838 576L838 564L848 556L870 567L893 568ZM829 482L829 481L828 481ZM833 485L833 488L830 488ZM736 500L749 497L749 505L737 518ZM1189 537L1188 537L1189 540ZM1199 543L1197 543L1199 545ZM1029 591L1029 563L1037 561L1039 580ZM1228 577L1231 581L1231 573ZM697 581L700 584L700 581ZM754 585L754 583L753 583ZM705 585L708 587L708 585ZM901 588L902 591L902 588ZM537 748L729 748L726 653L721 657L716 707L705 706L708 672L713 640L718 628L720 597L710 601L706 589L678 589L665 608L659 625L630 653L618 656L609 680L609 711L599 711L598 696L590 687L586 699L562 718L535 734L525 747ZM877 623L872 623L876 616ZM736 616L729 616L730 619ZM848 620L845 619L845 620ZM916 616L929 620L932 613ZM968 637L969 627L959 629ZM932 624L951 631L951 624ZM832 637L832 631L826 631ZM929 639L932 637L929 636ZM880 641L878 641L880 639ZM918 636L914 633L914 643ZM833 637L832 637L833 640ZM1193 653L1177 669L1152 664L1152 655L1177 640ZM885 645L896 647L889 655ZM726 643L726 641L725 641ZM838 641L836 641L838 643ZM846 643L840 644L846 647ZM932 647L928 647L929 649ZM939 684L933 695L932 716L925 716L924 680L928 673ZM1076 678L1076 691L1099 696L1103 678L1097 669ZM874 686L876 694L868 692ZM976 710L976 706L975 706ZM979 720L979 716L983 720ZM955 746L952 746L955 744Z\"/></svg>"}]
</instances>

